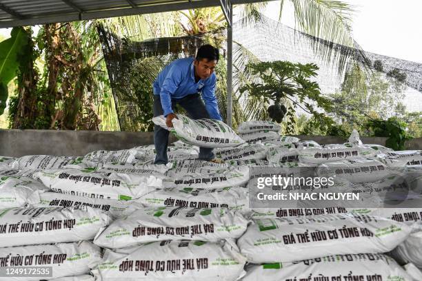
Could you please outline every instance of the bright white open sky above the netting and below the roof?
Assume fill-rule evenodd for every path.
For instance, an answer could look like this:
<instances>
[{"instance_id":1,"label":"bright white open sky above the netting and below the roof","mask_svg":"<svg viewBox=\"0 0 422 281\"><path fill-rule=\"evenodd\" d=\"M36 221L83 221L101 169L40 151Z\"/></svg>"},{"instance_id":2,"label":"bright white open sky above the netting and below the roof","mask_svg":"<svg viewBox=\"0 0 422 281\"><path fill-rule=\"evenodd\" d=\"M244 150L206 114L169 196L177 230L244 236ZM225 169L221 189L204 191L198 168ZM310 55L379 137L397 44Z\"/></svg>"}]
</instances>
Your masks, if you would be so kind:
<instances>
[{"instance_id":1,"label":"bright white open sky above the netting and below the roof","mask_svg":"<svg viewBox=\"0 0 422 281\"><path fill-rule=\"evenodd\" d=\"M343 0L356 10L353 37L363 50L422 63L421 0ZM281 23L294 28L293 8L284 1ZM279 19L279 1L269 1L264 14ZM236 17L234 17L234 20ZM10 29L0 34L9 37Z\"/></svg>"}]
</instances>

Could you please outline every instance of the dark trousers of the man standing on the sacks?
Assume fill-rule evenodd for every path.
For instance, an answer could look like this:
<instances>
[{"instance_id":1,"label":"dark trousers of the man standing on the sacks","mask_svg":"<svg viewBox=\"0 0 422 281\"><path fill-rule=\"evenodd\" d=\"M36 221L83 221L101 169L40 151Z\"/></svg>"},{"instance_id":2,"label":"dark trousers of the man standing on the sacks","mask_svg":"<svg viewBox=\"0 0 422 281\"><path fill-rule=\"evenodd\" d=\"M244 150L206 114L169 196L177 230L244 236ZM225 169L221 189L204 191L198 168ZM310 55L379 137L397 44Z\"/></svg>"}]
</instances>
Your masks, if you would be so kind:
<instances>
[{"instance_id":1,"label":"dark trousers of the man standing on the sacks","mask_svg":"<svg viewBox=\"0 0 422 281\"><path fill-rule=\"evenodd\" d=\"M172 110L179 104L183 109L188 112L188 116L192 119L210 118L210 115L205 108L199 94L189 94L184 98L173 99L172 98ZM160 96L154 95L154 117L163 115L163 107L161 106ZM163 129L160 126L154 125L154 145L155 145L155 160L154 164L167 164L167 148L168 148L168 130ZM199 148L199 159L211 160L214 158L212 148L200 147Z\"/></svg>"}]
</instances>

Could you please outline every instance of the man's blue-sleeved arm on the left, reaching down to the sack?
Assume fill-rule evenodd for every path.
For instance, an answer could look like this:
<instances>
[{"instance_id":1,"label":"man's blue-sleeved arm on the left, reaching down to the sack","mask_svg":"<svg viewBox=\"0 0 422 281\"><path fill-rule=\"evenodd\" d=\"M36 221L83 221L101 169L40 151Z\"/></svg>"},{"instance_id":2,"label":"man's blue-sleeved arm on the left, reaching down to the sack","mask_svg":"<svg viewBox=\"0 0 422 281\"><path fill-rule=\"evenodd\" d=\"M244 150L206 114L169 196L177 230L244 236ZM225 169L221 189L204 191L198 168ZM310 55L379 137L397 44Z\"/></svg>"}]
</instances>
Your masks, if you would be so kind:
<instances>
[{"instance_id":1,"label":"man's blue-sleeved arm on the left, reaching down to the sack","mask_svg":"<svg viewBox=\"0 0 422 281\"><path fill-rule=\"evenodd\" d=\"M182 73L177 65L173 65L167 76L165 76L160 91L161 107L163 107L164 116L173 113L171 94L176 92L177 87L180 85L181 78Z\"/></svg>"}]
</instances>

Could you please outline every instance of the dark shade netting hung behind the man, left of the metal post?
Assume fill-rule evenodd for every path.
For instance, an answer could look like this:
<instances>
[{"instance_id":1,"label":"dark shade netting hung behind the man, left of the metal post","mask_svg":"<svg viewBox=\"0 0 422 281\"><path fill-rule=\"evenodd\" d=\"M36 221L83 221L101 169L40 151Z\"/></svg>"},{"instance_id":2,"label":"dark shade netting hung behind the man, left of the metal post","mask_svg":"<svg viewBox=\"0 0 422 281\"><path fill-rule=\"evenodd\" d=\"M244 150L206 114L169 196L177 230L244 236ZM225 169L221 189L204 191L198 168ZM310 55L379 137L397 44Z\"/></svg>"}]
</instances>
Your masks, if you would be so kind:
<instances>
[{"instance_id":1,"label":"dark shade netting hung behind the man, left of the metal post","mask_svg":"<svg viewBox=\"0 0 422 281\"><path fill-rule=\"evenodd\" d=\"M141 42L119 38L104 25L98 26L98 32L121 131L139 132L153 129L150 121L152 83L157 74L174 59L194 56L204 42L214 40L211 42L213 45L219 44L217 38L224 30L201 36L166 37ZM216 95L219 105L223 106L225 98L221 91L216 91Z\"/></svg>"}]
</instances>

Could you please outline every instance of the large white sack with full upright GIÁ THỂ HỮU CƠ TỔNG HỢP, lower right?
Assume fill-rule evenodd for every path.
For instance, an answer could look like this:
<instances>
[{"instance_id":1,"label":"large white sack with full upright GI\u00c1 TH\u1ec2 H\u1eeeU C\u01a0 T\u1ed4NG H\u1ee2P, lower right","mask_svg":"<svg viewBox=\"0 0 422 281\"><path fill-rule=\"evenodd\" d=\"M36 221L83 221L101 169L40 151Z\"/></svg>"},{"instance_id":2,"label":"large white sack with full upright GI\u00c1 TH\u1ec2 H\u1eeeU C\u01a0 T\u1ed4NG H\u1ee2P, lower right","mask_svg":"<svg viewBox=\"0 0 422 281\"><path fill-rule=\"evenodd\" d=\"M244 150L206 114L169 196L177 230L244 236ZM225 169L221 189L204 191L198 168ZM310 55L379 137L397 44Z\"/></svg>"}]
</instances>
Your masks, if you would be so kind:
<instances>
[{"instance_id":1,"label":"large white sack with full upright GI\u00c1 TH\u1ec2 H\u1eeeU C\u01a0 T\u1ed4NG H\u1ee2P, lower right","mask_svg":"<svg viewBox=\"0 0 422 281\"><path fill-rule=\"evenodd\" d=\"M336 214L255 220L237 244L252 263L292 262L335 254L385 253L411 227L386 218Z\"/></svg>"}]
</instances>

